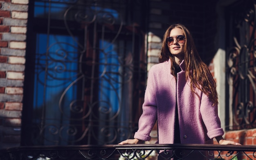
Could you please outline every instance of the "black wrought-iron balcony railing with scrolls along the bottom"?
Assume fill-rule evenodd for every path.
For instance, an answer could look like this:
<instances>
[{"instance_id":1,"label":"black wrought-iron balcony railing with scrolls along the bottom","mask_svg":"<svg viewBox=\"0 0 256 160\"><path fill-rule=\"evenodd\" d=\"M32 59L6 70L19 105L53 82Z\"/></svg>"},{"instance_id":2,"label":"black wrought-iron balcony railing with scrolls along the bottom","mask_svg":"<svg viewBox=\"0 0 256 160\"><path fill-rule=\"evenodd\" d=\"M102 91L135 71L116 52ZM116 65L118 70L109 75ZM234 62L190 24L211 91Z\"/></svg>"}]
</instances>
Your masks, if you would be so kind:
<instances>
[{"instance_id":1,"label":"black wrought-iron balcony railing with scrolls along the bottom","mask_svg":"<svg viewBox=\"0 0 256 160\"><path fill-rule=\"evenodd\" d=\"M0 150L1 160L234 160L255 159L255 146L216 144L131 144L33 146Z\"/></svg>"}]
</instances>

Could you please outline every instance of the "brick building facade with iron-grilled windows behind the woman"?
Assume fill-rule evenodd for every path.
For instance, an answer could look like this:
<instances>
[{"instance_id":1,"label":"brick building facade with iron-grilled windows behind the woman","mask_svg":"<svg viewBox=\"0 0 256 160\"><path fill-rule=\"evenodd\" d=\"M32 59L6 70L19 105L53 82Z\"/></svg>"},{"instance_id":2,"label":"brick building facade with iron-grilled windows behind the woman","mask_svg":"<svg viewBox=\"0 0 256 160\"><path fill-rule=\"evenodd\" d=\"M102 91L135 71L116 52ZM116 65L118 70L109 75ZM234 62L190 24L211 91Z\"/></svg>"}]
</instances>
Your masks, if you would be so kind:
<instances>
[{"instance_id":1,"label":"brick building facade with iron-grilled windows behind the woman","mask_svg":"<svg viewBox=\"0 0 256 160\"><path fill-rule=\"evenodd\" d=\"M254 0L0 4L1 148L132 138L147 71L176 22L190 29L216 80L225 138L256 144Z\"/></svg>"}]
</instances>

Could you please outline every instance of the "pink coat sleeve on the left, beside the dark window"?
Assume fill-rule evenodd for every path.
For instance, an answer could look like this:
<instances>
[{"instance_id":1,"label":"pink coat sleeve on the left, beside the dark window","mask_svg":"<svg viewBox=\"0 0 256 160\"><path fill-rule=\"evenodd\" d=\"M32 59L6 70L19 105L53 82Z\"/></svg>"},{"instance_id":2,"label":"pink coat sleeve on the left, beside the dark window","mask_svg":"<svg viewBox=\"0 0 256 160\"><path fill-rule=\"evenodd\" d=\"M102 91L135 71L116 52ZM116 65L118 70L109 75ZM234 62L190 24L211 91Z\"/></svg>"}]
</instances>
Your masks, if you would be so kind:
<instances>
[{"instance_id":1,"label":"pink coat sleeve on the left, beside the dark window","mask_svg":"<svg viewBox=\"0 0 256 160\"><path fill-rule=\"evenodd\" d=\"M152 68L151 68L152 69ZM148 84L145 91L144 103L142 105L142 115L139 118L139 129L135 132L134 138L148 141L149 136L157 120L157 102L155 97L154 76L153 71L148 73Z\"/></svg>"}]
</instances>

